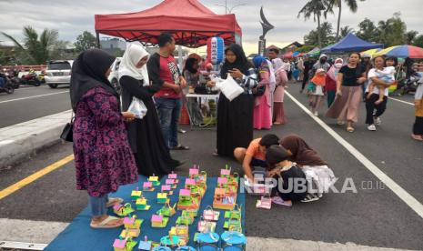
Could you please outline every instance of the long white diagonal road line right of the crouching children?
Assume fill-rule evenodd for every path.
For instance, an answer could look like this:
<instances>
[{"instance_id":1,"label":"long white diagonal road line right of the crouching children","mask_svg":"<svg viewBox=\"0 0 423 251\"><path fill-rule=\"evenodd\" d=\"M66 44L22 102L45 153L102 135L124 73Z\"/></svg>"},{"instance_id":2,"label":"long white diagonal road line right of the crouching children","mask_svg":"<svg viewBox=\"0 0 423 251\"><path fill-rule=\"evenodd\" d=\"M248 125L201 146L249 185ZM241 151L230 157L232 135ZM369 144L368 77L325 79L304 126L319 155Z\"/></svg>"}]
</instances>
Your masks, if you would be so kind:
<instances>
[{"instance_id":1,"label":"long white diagonal road line right of the crouching children","mask_svg":"<svg viewBox=\"0 0 423 251\"><path fill-rule=\"evenodd\" d=\"M315 115L312 115L311 112L307 109L306 106L301 104L293 95L290 95L287 91L285 92L289 98L294 101L304 112L309 115L312 119L314 119L319 126L322 126L323 129L327 131L330 136L333 136L335 140L341 145L344 146L347 151L352 155L355 156L363 166L366 166L368 170L375 176L378 177L380 181L382 181L386 186L388 186L394 194L396 194L402 201L404 201L411 209L413 209L418 216L423 218L423 205L413 196L408 194L408 192L399 186L393 179L387 176L384 172L382 172L378 166L374 165L366 156L361 154L356 147L352 146L345 140L342 136L339 136L337 132L335 132L332 128L327 126L325 122L323 122L320 118Z\"/></svg>"}]
</instances>

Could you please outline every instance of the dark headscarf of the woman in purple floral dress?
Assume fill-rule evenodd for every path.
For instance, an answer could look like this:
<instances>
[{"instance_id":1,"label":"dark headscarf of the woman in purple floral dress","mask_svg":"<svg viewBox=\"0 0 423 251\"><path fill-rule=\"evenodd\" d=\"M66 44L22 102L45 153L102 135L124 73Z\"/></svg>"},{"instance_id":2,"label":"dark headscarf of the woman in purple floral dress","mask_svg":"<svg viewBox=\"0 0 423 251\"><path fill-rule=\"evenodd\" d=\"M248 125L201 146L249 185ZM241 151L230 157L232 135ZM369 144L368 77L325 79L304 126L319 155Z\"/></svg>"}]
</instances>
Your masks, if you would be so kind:
<instances>
[{"instance_id":1,"label":"dark headscarf of the woman in purple floral dress","mask_svg":"<svg viewBox=\"0 0 423 251\"><path fill-rule=\"evenodd\" d=\"M71 105L74 111L76 111L76 105L82 97L97 86L101 86L106 92L115 95L119 102L119 95L106 77L106 72L114 61L115 56L99 49L89 49L78 55L72 65L69 87Z\"/></svg>"}]
</instances>

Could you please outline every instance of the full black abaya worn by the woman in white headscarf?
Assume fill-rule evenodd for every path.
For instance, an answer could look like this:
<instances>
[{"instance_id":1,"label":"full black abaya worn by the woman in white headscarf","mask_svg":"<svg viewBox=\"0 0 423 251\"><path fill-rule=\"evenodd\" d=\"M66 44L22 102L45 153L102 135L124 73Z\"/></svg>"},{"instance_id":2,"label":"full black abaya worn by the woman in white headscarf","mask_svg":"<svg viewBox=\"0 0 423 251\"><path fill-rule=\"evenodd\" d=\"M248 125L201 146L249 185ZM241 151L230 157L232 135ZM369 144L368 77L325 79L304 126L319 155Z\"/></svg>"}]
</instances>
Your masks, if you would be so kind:
<instances>
[{"instance_id":1,"label":"full black abaya worn by the woman in white headscarf","mask_svg":"<svg viewBox=\"0 0 423 251\"><path fill-rule=\"evenodd\" d=\"M126 111L136 96L146 105L143 119L136 119L126 125L129 145L136 157L138 174L164 176L175 170L180 163L172 159L160 129L156 106L152 96L158 91L156 85L143 86L141 81L124 75L119 81L122 86L122 108Z\"/></svg>"}]
</instances>

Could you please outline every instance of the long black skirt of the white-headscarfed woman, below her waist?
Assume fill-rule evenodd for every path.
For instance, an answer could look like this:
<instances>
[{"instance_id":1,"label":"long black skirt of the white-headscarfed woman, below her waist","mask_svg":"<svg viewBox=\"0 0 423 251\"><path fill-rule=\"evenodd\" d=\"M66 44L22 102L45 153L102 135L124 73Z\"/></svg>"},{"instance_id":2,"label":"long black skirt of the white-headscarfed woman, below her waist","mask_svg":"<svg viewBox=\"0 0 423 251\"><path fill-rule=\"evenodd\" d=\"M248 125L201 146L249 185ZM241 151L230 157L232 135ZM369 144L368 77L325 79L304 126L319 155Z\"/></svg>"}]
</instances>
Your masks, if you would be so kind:
<instances>
[{"instance_id":1,"label":"long black skirt of the white-headscarfed woman, below her waist","mask_svg":"<svg viewBox=\"0 0 423 251\"><path fill-rule=\"evenodd\" d=\"M139 175L164 176L174 171L180 163L170 156L153 99L143 99L143 102L147 108L146 116L127 125L129 143Z\"/></svg>"}]
</instances>

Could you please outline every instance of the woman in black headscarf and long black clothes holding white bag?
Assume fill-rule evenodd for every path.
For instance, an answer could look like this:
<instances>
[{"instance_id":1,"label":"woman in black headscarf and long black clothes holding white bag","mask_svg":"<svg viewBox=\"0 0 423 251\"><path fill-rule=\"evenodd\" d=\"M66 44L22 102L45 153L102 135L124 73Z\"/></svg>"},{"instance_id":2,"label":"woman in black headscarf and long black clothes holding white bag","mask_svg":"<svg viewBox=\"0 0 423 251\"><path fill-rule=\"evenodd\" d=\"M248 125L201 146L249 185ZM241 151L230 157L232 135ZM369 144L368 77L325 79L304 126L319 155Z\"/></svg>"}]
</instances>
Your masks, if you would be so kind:
<instances>
[{"instance_id":1,"label":"woman in black headscarf and long black clothes holding white bag","mask_svg":"<svg viewBox=\"0 0 423 251\"><path fill-rule=\"evenodd\" d=\"M248 61L240 45L229 45L225 50L226 60L220 71L224 79L231 75L244 93L229 101L223 94L217 105L217 152L219 156L234 156L237 147L247 148L253 140L254 96L257 87L256 71ZM209 82L208 86L215 83Z\"/></svg>"}]
</instances>

